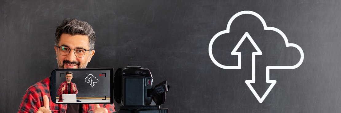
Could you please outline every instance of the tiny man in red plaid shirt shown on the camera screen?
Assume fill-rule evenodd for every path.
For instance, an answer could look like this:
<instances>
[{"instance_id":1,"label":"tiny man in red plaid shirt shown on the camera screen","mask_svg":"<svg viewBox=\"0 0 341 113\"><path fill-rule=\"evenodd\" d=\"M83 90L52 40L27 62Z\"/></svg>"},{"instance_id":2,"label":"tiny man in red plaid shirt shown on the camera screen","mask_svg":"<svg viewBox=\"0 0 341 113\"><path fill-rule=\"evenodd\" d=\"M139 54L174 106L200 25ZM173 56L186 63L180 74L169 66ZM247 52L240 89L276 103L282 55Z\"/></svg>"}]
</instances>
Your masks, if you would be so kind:
<instances>
[{"instance_id":1,"label":"tiny man in red plaid shirt shown on the camera screen","mask_svg":"<svg viewBox=\"0 0 341 113\"><path fill-rule=\"evenodd\" d=\"M73 73L71 71L66 72L66 80L62 83L60 83L58 88L58 95L59 100L58 102L63 102L63 96L62 94L77 94L78 90L75 83L71 82L71 79L73 77Z\"/></svg>"}]
</instances>

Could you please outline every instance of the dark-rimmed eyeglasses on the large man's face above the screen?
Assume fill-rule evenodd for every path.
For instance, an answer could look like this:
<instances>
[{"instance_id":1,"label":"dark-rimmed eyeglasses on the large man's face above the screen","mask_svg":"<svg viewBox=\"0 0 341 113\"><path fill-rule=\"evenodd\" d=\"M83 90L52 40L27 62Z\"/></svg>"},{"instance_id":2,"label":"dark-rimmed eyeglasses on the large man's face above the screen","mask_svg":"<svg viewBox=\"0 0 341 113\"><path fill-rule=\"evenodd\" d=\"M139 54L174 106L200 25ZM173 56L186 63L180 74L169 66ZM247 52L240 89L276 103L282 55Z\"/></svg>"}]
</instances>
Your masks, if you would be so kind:
<instances>
[{"instance_id":1,"label":"dark-rimmed eyeglasses on the large man's face above the screen","mask_svg":"<svg viewBox=\"0 0 341 113\"><path fill-rule=\"evenodd\" d=\"M59 50L59 54L63 56L69 55L71 51L70 48L65 47L65 46L56 46L56 47ZM86 49L77 48L77 49L73 49L73 52L75 53L76 57L81 58L81 57L84 57L86 51L91 51L91 50L93 49L86 50Z\"/></svg>"}]
</instances>

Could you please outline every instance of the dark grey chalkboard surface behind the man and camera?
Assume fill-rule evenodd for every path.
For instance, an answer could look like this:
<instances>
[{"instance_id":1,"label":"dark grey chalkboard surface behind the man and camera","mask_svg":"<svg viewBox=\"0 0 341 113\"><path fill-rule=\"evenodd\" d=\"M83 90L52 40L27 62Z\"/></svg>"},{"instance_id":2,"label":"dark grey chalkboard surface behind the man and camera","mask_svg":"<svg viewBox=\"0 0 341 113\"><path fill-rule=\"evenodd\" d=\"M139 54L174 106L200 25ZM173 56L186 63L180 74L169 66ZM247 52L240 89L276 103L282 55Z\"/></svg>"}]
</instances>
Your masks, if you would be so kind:
<instances>
[{"instance_id":1,"label":"dark grey chalkboard surface behind the man and camera","mask_svg":"<svg viewBox=\"0 0 341 113\"><path fill-rule=\"evenodd\" d=\"M340 113L340 5L340 0L0 0L0 112L17 112L27 88L57 68L56 26L76 18L97 36L87 68L148 68L154 84L170 85L161 106L169 112ZM252 14L234 18L242 11L264 21ZM214 36L211 52L221 65L209 53ZM119 106L115 103L116 110Z\"/></svg>"}]
</instances>

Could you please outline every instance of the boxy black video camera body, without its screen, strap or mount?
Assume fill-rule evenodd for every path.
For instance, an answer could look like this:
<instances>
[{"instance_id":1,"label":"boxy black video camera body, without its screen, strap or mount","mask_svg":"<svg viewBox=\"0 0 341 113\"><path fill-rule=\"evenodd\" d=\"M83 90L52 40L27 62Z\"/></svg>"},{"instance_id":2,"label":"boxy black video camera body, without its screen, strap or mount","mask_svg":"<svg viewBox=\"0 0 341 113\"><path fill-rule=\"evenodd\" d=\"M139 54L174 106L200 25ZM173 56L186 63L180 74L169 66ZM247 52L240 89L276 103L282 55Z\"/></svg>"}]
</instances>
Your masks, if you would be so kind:
<instances>
[{"instance_id":1,"label":"boxy black video camera body, without its screen, strap or mount","mask_svg":"<svg viewBox=\"0 0 341 113\"><path fill-rule=\"evenodd\" d=\"M152 96L147 95L153 88L153 77L149 69L128 66L117 69L114 76L114 99L125 107L147 106Z\"/></svg>"}]
</instances>

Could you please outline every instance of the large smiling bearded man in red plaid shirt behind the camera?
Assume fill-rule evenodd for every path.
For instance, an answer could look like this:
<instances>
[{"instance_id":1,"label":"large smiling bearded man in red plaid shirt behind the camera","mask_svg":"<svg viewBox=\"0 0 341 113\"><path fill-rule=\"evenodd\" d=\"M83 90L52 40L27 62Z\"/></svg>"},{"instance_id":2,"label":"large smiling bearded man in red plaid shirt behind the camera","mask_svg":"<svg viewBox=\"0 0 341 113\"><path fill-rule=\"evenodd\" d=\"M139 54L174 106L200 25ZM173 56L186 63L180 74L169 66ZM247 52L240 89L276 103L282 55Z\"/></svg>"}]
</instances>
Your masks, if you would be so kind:
<instances>
[{"instance_id":1,"label":"large smiling bearded man in red plaid shirt behind the camera","mask_svg":"<svg viewBox=\"0 0 341 113\"><path fill-rule=\"evenodd\" d=\"M95 32L84 21L64 19L55 34L55 51L59 68L85 68L95 53ZM30 86L18 113L112 113L114 104L56 104L50 97L50 77Z\"/></svg>"}]
</instances>

